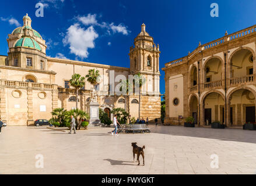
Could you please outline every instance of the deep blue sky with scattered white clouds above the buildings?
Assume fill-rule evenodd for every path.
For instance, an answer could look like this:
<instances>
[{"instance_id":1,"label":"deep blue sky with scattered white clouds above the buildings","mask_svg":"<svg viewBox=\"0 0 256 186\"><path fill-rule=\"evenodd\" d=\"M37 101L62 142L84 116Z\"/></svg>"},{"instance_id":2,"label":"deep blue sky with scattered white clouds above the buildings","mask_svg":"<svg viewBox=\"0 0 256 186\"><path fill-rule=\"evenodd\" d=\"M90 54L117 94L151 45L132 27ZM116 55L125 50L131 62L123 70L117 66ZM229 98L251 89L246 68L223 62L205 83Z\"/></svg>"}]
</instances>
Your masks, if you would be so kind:
<instances>
[{"instance_id":1,"label":"deep blue sky with scattered white clouds above the buildings","mask_svg":"<svg viewBox=\"0 0 256 186\"><path fill-rule=\"evenodd\" d=\"M36 3L45 5L36 17ZM218 3L219 17L211 17ZM13 6L15 4L15 6ZM160 45L160 68L202 44L256 24L256 1L3 1L0 6L0 55L7 55L6 37L29 14L32 27L48 44L47 56L129 67L129 47L146 24ZM160 91L164 90L161 71Z\"/></svg>"}]
</instances>

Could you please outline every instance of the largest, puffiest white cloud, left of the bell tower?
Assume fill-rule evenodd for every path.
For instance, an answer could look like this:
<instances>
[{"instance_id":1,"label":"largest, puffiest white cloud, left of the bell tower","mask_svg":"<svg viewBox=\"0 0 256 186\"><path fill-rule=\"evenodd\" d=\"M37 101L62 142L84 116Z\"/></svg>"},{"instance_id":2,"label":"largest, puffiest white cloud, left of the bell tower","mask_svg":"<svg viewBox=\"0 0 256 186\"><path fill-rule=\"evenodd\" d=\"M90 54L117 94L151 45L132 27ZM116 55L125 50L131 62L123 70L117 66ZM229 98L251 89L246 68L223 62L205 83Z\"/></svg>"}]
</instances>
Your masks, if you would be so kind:
<instances>
[{"instance_id":1,"label":"largest, puffiest white cloud, left of the bell tower","mask_svg":"<svg viewBox=\"0 0 256 186\"><path fill-rule=\"evenodd\" d=\"M68 28L63 43L64 46L69 45L71 53L83 59L88 57L88 49L95 47L94 40L97 37L99 35L93 26L85 30L85 28L80 27L80 24L75 23Z\"/></svg>"}]
</instances>

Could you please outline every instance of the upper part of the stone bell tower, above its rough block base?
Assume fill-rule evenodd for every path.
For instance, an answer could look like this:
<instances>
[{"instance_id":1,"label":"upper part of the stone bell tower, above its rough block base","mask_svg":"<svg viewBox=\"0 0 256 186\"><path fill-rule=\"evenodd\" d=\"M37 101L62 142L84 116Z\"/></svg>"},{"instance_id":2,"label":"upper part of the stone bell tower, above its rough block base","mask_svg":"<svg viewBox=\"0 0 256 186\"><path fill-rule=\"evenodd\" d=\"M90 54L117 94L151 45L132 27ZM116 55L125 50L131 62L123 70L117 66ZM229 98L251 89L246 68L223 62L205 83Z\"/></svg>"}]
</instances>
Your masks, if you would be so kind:
<instances>
[{"instance_id":1,"label":"upper part of the stone bell tower, above its rough block base","mask_svg":"<svg viewBox=\"0 0 256 186\"><path fill-rule=\"evenodd\" d=\"M143 23L141 33L134 39L134 46L130 48L130 71L134 75L140 73L146 78L142 87L143 94L159 94L159 45L155 44L153 37L146 32Z\"/></svg>"}]
</instances>

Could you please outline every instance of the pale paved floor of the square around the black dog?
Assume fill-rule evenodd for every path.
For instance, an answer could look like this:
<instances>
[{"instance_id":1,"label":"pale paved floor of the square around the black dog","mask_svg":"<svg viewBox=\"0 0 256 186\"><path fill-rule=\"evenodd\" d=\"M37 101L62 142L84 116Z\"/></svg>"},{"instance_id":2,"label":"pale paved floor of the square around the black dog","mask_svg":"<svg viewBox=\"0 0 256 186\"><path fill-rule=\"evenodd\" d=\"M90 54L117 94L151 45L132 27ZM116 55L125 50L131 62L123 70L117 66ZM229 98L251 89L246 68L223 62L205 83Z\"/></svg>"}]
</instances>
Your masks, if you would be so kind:
<instances>
[{"instance_id":1,"label":"pale paved floor of the square around the black dog","mask_svg":"<svg viewBox=\"0 0 256 186\"><path fill-rule=\"evenodd\" d=\"M66 134L6 127L0 134L0 174L256 174L256 131L150 129L113 136L111 128ZM146 146L145 166L133 161L131 142ZM211 168L212 154L219 157L219 169ZM43 155L43 169L36 168L36 155Z\"/></svg>"}]
</instances>

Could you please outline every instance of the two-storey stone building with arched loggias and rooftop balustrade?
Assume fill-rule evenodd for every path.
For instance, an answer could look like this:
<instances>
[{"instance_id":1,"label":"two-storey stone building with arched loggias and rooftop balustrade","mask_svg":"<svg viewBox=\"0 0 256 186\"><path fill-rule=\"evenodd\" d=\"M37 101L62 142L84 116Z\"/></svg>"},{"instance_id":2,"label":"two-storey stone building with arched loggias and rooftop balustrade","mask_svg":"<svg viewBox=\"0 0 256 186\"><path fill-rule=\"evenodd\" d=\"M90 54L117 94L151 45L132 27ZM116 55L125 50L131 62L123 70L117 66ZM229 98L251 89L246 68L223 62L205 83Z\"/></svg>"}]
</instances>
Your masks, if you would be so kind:
<instances>
[{"instance_id":1,"label":"two-storey stone building with arched loggias and rooftop balustrade","mask_svg":"<svg viewBox=\"0 0 256 186\"><path fill-rule=\"evenodd\" d=\"M256 26L225 34L165 64L165 124L188 116L227 126L255 122ZM180 117L179 117L180 116ZM180 119L179 119L180 118Z\"/></svg>"}]
</instances>

